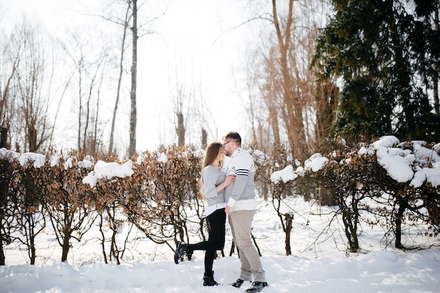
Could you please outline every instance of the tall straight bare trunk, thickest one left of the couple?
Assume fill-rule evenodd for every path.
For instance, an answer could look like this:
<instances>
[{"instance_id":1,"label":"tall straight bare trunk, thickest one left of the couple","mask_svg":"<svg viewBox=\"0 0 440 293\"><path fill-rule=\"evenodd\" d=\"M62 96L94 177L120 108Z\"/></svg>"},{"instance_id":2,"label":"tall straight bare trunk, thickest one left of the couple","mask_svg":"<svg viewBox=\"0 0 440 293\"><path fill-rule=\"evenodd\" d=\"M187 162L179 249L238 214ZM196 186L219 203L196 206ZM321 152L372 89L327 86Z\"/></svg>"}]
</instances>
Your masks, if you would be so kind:
<instances>
[{"instance_id":1,"label":"tall straight bare trunk, thickest one left of the couple","mask_svg":"<svg viewBox=\"0 0 440 293\"><path fill-rule=\"evenodd\" d=\"M136 72L137 72L137 62L138 62L138 7L137 0L132 0L133 4L133 26L131 27L131 32L133 34L133 60L131 63L131 111L130 111L130 145L129 145L129 156L131 157L136 153Z\"/></svg>"}]
</instances>

